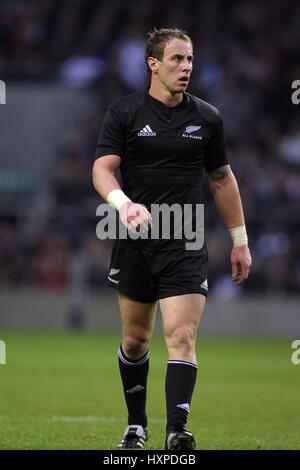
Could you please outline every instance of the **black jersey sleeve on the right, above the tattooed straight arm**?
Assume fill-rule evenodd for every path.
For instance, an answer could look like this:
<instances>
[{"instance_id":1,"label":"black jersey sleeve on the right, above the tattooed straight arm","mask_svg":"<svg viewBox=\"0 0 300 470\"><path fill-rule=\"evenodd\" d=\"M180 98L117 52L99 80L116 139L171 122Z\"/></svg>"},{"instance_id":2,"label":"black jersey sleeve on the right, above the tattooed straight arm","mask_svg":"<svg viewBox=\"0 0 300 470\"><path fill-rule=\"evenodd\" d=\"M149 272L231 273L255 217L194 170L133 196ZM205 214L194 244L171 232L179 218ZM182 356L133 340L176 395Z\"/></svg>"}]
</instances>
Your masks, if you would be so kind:
<instances>
[{"instance_id":1,"label":"black jersey sleeve on the right, above the tattooed straight arm","mask_svg":"<svg viewBox=\"0 0 300 470\"><path fill-rule=\"evenodd\" d=\"M223 121L220 119L215 124L215 129L205 148L204 168L206 172L210 172L228 163Z\"/></svg>"}]
</instances>

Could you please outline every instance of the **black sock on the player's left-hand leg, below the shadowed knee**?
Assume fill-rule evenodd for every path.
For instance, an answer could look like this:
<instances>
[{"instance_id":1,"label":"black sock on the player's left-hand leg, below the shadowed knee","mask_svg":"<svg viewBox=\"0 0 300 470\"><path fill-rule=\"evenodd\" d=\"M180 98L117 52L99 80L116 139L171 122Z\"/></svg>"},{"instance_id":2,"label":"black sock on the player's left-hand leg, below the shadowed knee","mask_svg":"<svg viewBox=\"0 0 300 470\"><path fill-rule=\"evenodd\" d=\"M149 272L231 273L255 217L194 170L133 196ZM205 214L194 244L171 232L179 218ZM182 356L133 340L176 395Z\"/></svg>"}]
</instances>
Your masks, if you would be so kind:
<instances>
[{"instance_id":1,"label":"black sock on the player's left-hand leg, below the shadowed knee","mask_svg":"<svg viewBox=\"0 0 300 470\"><path fill-rule=\"evenodd\" d=\"M137 360L128 359L119 347L119 368L128 409L128 424L147 426L146 386L149 371L149 351Z\"/></svg>"}]
</instances>

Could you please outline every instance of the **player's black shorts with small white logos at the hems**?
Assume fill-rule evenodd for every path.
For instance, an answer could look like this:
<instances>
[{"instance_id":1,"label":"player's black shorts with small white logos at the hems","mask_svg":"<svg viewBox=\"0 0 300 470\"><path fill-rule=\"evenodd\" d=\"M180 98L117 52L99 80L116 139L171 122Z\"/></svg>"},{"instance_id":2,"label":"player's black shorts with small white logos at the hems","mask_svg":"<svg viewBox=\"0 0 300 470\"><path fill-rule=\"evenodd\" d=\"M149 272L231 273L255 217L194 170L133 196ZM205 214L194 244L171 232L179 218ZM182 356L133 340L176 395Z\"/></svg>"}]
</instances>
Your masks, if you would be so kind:
<instances>
[{"instance_id":1,"label":"player's black shorts with small white logos at the hems","mask_svg":"<svg viewBox=\"0 0 300 470\"><path fill-rule=\"evenodd\" d=\"M184 246L165 251L140 250L122 242L113 248L108 284L139 302L174 295L207 296L207 252Z\"/></svg>"}]
</instances>

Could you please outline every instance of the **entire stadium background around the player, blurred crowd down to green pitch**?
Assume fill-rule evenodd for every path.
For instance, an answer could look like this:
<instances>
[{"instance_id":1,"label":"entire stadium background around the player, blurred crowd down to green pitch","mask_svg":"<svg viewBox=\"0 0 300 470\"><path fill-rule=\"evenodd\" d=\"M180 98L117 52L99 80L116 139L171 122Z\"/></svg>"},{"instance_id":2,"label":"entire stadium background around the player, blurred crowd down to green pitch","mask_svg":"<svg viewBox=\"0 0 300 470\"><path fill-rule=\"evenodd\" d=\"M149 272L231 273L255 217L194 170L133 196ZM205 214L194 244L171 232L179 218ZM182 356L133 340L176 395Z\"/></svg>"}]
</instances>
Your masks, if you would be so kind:
<instances>
[{"instance_id":1,"label":"entire stadium background around the player, blurred crowd down to green pitch","mask_svg":"<svg viewBox=\"0 0 300 470\"><path fill-rule=\"evenodd\" d=\"M113 359L120 321L105 286L111 243L95 235L100 200L91 168L108 104L146 85L143 48L153 26L178 26L193 39L189 91L223 114L253 255L252 274L237 288L230 240L207 192L210 297L194 399L202 447L299 448L300 366L291 364L291 342L300 338L300 106L291 84L300 79L300 7L293 0L1 1L0 448L113 448L121 432ZM158 321L150 405L158 428L162 343ZM111 401L108 392L102 399L103 377L115 390ZM101 440L103 428L111 441Z\"/></svg>"}]
</instances>

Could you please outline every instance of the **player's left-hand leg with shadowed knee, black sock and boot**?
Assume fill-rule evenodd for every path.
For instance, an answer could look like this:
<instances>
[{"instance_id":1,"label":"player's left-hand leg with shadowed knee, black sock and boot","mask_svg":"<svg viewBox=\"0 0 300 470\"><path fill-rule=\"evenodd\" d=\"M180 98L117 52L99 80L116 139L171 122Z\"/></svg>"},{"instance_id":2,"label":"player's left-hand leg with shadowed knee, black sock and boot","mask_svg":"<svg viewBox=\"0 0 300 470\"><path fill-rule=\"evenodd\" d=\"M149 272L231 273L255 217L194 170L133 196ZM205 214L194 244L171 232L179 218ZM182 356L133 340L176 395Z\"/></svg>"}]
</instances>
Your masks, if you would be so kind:
<instances>
[{"instance_id":1,"label":"player's left-hand leg with shadowed knee, black sock and boot","mask_svg":"<svg viewBox=\"0 0 300 470\"><path fill-rule=\"evenodd\" d=\"M152 336L157 302L141 303L118 293L122 319L122 345L119 368L128 409L128 425L147 427L146 393L149 370L149 341ZM130 445L134 445L134 428ZM128 428L125 434L128 434ZM139 430L138 430L139 432ZM140 430L140 433L142 431ZM126 437L124 435L124 437ZM123 440L124 441L124 440ZM128 443L122 441L122 446Z\"/></svg>"}]
</instances>

